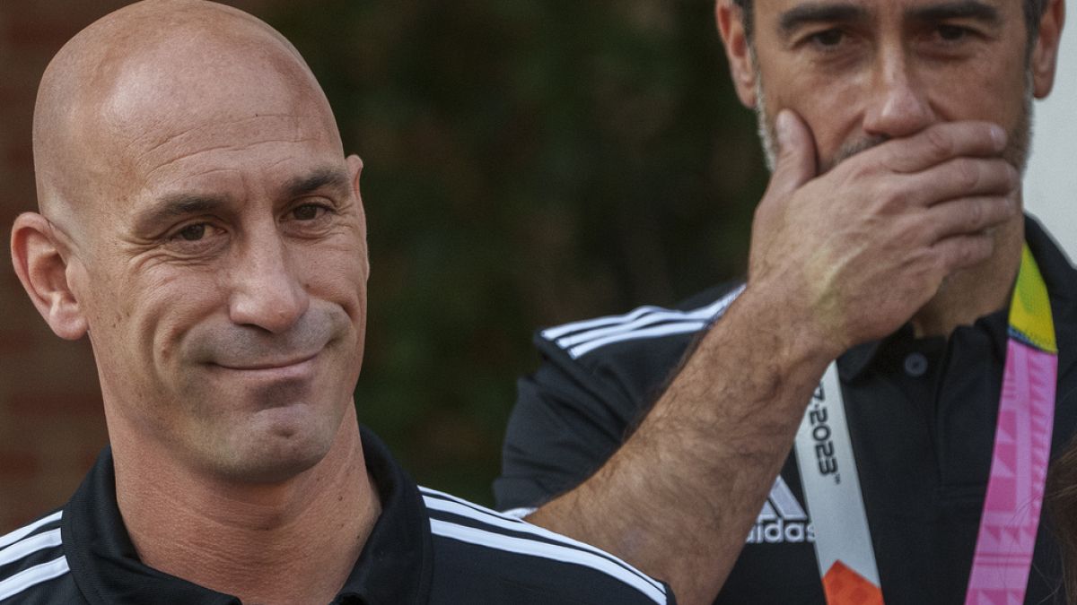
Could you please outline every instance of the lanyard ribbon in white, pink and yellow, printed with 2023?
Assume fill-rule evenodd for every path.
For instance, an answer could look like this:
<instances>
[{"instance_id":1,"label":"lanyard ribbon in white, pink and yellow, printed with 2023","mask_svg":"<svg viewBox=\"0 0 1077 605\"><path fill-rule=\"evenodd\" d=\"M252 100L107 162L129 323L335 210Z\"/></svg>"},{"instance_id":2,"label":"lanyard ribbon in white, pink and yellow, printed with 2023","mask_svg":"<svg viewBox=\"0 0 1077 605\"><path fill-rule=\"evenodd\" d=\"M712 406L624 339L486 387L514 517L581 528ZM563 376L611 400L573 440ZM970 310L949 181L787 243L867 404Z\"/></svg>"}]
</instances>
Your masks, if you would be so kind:
<instances>
[{"instance_id":1,"label":"lanyard ribbon in white, pink and yellow, printed with 2023","mask_svg":"<svg viewBox=\"0 0 1077 605\"><path fill-rule=\"evenodd\" d=\"M1010 301L991 475L966 605L1023 603L1051 451L1058 347L1047 285L1027 244ZM837 365L797 430L795 450L828 605L882 605L879 568Z\"/></svg>"}]
</instances>

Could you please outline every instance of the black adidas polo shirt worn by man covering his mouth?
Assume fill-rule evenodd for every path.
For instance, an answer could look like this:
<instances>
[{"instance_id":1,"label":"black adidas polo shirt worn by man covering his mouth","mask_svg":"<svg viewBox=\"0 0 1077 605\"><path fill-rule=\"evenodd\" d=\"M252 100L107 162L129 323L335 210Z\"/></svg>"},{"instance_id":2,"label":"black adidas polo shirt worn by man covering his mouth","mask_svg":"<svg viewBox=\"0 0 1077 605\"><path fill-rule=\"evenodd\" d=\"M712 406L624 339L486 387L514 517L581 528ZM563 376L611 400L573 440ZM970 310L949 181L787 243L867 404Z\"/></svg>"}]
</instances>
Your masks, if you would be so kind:
<instances>
[{"instance_id":1,"label":"black adidas polo shirt worn by man covering his mouth","mask_svg":"<svg viewBox=\"0 0 1077 605\"><path fill-rule=\"evenodd\" d=\"M1077 422L1077 271L1035 221L1026 220L1025 230L1060 349L1053 456ZM731 290L712 290L679 309L644 307L537 333L545 363L519 383L494 482L499 508L535 507L600 466L694 339L724 312ZM992 313L949 339L918 339L906 326L838 360L886 603L964 601L998 417L1007 318L1006 310ZM824 604L803 502L791 455L716 603ZM1025 602L1062 603L1060 587L1045 520Z\"/></svg>"}]
</instances>

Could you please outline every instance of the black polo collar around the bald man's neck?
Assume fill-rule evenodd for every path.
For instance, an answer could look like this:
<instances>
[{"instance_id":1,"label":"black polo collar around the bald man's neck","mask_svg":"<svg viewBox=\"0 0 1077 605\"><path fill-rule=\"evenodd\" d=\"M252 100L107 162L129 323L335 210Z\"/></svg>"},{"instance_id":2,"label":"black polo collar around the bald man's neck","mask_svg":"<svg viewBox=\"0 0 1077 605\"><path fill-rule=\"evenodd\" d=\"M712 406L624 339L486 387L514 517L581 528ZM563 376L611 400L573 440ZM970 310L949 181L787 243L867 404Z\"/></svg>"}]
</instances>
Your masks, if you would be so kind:
<instances>
[{"instance_id":1,"label":"black polo collar around the bald man's neck","mask_svg":"<svg viewBox=\"0 0 1077 605\"><path fill-rule=\"evenodd\" d=\"M422 496L386 446L366 428L361 433L381 515L334 603L425 603L433 546ZM158 572L139 560L116 505L111 448L101 452L65 507L60 531L75 583L95 605L158 603L162 599L174 605L240 603L235 596Z\"/></svg>"}]
</instances>

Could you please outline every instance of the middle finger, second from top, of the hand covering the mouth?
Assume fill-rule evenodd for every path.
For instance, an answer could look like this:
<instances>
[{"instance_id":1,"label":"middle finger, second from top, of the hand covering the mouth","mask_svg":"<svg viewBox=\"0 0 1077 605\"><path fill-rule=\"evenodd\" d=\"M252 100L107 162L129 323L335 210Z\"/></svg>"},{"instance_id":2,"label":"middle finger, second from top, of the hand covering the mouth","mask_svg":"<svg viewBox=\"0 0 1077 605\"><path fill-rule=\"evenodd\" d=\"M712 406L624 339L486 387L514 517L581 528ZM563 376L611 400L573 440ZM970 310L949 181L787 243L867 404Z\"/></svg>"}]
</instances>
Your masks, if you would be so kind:
<instances>
[{"instance_id":1,"label":"middle finger, second from top, of the hand covering the mouth","mask_svg":"<svg viewBox=\"0 0 1077 605\"><path fill-rule=\"evenodd\" d=\"M915 174L895 179L897 187L908 187L912 205L934 206L961 197L1006 196L1017 192L1021 175L999 158L959 157Z\"/></svg>"}]
</instances>

